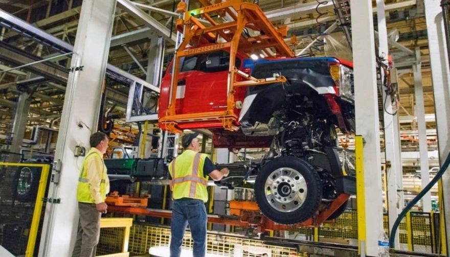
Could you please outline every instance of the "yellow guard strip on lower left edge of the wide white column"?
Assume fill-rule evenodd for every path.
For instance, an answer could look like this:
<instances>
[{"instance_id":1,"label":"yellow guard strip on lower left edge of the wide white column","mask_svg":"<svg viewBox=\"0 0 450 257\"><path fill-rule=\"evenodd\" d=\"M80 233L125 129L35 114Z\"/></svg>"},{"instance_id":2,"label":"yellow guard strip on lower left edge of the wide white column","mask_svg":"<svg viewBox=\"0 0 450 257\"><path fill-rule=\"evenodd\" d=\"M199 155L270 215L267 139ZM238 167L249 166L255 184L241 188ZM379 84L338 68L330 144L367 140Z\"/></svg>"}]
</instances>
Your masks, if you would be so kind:
<instances>
[{"instance_id":1,"label":"yellow guard strip on lower left edge of the wide white column","mask_svg":"<svg viewBox=\"0 0 450 257\"><path fill-rule=\"evenodd\" d=\"M356 208L358 216L358 253L366 255L366 203L364 189L363 136L355 136Z\"/></svg>"}]
</instances>

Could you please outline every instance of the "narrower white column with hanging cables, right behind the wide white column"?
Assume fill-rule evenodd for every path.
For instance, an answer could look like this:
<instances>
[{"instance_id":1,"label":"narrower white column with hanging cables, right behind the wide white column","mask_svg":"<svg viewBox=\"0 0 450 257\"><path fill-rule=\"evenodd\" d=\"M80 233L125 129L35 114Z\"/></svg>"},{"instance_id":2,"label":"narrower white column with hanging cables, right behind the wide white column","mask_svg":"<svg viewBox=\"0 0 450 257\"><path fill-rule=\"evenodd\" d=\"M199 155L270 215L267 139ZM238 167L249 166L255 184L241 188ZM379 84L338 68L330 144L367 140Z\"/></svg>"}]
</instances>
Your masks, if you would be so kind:
<instances>
[{"instance_id":1,"label":"narrower white column with hanging cables, right behind the wide white column","mask_svg":"<svg viewBox=\"0 0 450 257\"><path fill-rule=\"evenodd\" d=\"M385 2L384 0L376 0L376 15L378 20L378 55L383 58L384 63L388 65L389 56L389 46L388 46L388 30L386 28L386 12L385 12ZM384 71L382 71L381 79L385 77ZM398 188L397 183L397 173L402 174L401 160L399 152L399 130L398 126L398 115L392 115L394 113L391 103L391 96L386 93L385 88L381 90L383 92L383 99L386 99L384 103L384 137L385 137L385 161L386 161L386 178L388 189L386 192L388 201L388 214L389 214L389 230L392 229L395 219L397 219L400 213L399 201L397 196L397 191L402 188ZM401 177L401 175L400 175ZM395 241L395 248L399 248L400 241L398 239L398 232Z\"/></svg>"}]
</instances>

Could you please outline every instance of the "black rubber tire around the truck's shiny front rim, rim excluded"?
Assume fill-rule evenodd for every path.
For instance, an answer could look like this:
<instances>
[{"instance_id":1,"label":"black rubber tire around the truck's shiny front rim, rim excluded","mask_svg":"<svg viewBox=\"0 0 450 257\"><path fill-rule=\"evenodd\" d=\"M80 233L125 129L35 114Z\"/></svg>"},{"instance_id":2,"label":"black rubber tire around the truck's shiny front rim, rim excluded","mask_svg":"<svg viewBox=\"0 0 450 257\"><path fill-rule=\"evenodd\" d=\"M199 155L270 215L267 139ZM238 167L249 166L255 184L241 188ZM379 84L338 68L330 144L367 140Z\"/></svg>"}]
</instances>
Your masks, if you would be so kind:
<instances>
[{"instance_id":1,"label":"black rubber tire around the truck's shiny front rim, rim excluded","mask_svg":"<svg viewBox=\"0 0 450 257\"><path fill-rule=\"evenodd\" d=\"M268 193L269 196L276 195L275 193L274 195L272 195L272 193L268 192L269 189L266 188L265 183L266 180L268 179L268 176L271 176L271 174L274 171L280 168L287 168L297 171L303 176L304 181L306 182L306 197L304 198L300 207L296 207L296 209L292 209L292 211L286 212L279 211L275 207L273 207L272 204L269 203L269 200L266 198L266 193ZM298 180L297 177L295 179ZM279 185L281 186L281 183ZM299 192L303 193L301 190L302 189L300 189ZM288 194L291 193L296 194L297 192L291 190L289 191ZM255 181L255 196L256 202L261 212L267 218L279 224L295 224L307 220L317 212L319 204L322 199L322 182L319 177L319 174L316 171L314 171L314 169L312 168L312 166L309 165L309 163L296 157L282 156L272 161L269 161L261 168ZM283 198L283 196L281 197ZM284 198L284 200L286 200L286 198ZM294 205L295 202L297 201L294 201ZM297 202L297 204L299 203Z\"/></svg>"}]
</instances>

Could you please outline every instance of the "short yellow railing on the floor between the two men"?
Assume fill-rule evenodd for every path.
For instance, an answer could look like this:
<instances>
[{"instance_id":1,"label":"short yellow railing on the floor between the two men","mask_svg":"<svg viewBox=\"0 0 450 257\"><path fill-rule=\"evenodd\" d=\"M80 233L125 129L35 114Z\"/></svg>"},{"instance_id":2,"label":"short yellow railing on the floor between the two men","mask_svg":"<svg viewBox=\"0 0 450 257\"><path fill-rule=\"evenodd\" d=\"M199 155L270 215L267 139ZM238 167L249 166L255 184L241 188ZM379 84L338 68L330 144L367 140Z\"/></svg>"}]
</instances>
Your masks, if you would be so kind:
<instances>
[{"instance_id":1,"label":"short yellow railing on the floor between the two men","mask_svg":"<svg viewBox=\"0 0 450 257\"><path fill-rule=\"evenodd\" d=\"M128 243L130 238L130 227L133 225L132 218L102 218L100 220L100 228L125 228L122 239L122 252L111 253L106 255L97 255L101 257L129 257ZM117 234L117 233L115 233Z\"/></svg>"}]
</instances>

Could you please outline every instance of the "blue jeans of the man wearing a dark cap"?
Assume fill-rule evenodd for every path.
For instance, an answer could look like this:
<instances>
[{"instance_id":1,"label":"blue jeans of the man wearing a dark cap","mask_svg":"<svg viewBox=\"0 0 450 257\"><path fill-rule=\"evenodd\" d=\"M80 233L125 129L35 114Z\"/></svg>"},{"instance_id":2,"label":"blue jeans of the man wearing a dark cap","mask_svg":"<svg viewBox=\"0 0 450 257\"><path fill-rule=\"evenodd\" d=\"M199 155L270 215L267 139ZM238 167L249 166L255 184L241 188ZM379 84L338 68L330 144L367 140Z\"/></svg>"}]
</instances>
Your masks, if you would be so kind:
<instances>
[{"instance_id":1,"label":"blue jeans of the man wearing a dark cap","mask_svg":"<svg viewBox=\"0 0 450 257\"><path fill-rule=\"evenodd\" d=\"M179 257L186 227L189 223L194 240L193 257L205 257L207 216L205 204L198 199L178 199L172 204L170 257Z\"/></svg>"}]
</instances>

